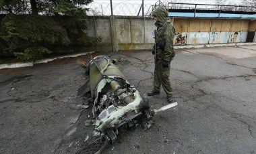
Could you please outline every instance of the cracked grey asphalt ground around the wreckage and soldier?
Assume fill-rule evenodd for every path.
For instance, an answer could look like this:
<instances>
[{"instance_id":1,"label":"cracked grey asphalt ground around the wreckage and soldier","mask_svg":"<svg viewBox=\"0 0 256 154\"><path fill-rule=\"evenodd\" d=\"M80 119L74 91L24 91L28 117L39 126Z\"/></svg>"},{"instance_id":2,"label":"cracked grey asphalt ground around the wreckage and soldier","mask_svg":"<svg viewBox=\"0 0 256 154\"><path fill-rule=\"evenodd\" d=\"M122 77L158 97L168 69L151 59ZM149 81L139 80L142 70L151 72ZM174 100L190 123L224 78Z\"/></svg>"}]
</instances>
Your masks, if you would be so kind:
<instances>
[{"instance_id":1,"label":"cracked grey asphalt ground around the wreckage and soldier","mask_svg":"<svg viewBox=\"0 0 256 154\"><path fill-rule=\"evenodd\" d=\"M152 88L151 52L117 52L143 96ZM95 56L95 55L92 55ZM90 56L84 56L89 59ZM76 58L0 70L0 153L76 153L92 141L87 78ZM106 153L256 153L256 46L177 50L170 80L178 106L156 114L148 130L119 134ZM161 90L152 108L168 104Z\"/></svg>"}]
</instances>

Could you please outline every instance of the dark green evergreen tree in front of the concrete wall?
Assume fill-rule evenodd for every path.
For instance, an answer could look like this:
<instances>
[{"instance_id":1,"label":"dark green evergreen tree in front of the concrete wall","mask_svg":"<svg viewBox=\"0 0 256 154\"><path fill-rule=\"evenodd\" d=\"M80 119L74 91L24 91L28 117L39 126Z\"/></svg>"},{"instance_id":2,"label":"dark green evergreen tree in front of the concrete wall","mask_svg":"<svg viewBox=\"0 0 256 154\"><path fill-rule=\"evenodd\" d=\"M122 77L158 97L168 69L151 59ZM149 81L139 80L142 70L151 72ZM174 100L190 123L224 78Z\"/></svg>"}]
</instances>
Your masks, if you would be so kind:
<instances>
[{"instance_id":1,"label":"dark green evergreen tree in front of the concrete wall","mask_svg":"<svg viewBox=\"0 0 256 154\"><path fill-rule=\"evenodd\" d=\"M61 46L99 42L88 37L84 5L92 0L0 0L5 15L0 27L0 50L22 60L36 60Z\"/></svg>"}]
</instances>

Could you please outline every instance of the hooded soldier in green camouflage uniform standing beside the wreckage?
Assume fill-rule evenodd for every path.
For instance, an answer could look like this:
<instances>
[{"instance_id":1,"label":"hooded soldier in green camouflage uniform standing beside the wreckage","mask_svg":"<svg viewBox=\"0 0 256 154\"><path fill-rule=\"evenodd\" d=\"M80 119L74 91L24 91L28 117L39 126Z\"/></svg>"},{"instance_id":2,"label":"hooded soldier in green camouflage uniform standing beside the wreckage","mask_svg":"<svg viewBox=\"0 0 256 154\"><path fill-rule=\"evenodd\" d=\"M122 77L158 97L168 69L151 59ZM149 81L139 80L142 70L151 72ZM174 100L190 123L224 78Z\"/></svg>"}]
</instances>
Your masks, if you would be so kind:
<instances>
[{"instance_id":1,"label":"hooded soldier in green camouflage uniform standing beside the wreckage","mask_svg":"<svg viewBox=\"0 0 256 154\"><path fill-rule=\"evenodd\" d=\"M173 102L172 87L170 86L170 61L175 56L173 49L173 40L175 35L175 28L173 23L167 21L167 11L164 7L152 12L156 20L156 37L155 46L156 50L152 51L155 55L155 70L154 70L154 88L148 92L148 96L160 94L160 87L166 92L168 102Z\"/></svg>"}]
</instances>

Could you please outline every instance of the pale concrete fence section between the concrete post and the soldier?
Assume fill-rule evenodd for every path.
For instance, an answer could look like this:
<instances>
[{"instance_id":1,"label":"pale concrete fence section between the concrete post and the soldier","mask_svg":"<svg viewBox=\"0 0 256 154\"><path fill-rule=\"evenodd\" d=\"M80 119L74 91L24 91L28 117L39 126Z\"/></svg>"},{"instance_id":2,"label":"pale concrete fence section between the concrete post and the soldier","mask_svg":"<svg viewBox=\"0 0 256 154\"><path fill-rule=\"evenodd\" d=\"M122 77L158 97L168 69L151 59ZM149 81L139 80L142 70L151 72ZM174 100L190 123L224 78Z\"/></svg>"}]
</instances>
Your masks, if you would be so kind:
<instances>
[{"instance_id":1,"label":"pale concrete fence section between the concrete post and the soldier","mask_svg":"<svg viewBox=\"0 0 256 154\"><path fill-rule=\"evenodd\" d=\"M114 29L117 33L118 50L145 50L152 48L152 32L156 29L149 17L117 17Z\"/></svg>"}]
</instances>

